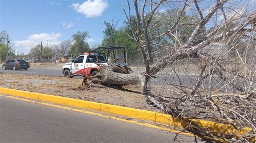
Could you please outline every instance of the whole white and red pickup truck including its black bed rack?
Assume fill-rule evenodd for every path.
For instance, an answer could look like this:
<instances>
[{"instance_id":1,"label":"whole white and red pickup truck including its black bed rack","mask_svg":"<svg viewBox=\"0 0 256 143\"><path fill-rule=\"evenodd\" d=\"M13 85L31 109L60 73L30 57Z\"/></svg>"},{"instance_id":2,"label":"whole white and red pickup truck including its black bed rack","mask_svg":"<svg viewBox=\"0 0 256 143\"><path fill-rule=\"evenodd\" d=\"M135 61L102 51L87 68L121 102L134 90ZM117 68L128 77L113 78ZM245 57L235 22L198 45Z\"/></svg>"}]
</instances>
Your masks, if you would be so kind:
<instances>
[{"instance_id":1,"label":"whole white and red pickup truck including its black bed rack","mask_svg":"<svg viewBox=\"0 0 256 143\"><path fill-rule=\"evenodd\" d=\"M98 73L98 63L106 66L108 62L118 66L127 66L125 48L115 46L98 47L91 52L79 55L72 62L65 63L62 66L62 72L64 76L93 76Z\"/></svg>"}]
</instances>

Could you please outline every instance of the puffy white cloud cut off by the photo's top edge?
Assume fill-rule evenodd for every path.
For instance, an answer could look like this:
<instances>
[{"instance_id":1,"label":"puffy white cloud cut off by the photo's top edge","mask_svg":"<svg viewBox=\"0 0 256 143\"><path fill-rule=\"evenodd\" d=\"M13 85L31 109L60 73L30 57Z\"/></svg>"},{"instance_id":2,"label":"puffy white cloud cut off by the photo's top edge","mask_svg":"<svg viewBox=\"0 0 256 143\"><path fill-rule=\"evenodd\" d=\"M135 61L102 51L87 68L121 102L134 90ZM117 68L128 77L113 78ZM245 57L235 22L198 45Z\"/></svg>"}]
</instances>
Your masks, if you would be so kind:
<instances>
[{"instance_id":1,"label":"puffy white cloud cut off by the photo's top edge","mask_svg":"<svg viewBox=\"0 0 256 143\"><path fill-rule=\"evenodd\" d=\"M87 0L82 4L75 3L71 7L78 12L82 13L87 18L102 16L103 11L107 8L107 1L105 0Z\"/></svg>"}]
</instances>

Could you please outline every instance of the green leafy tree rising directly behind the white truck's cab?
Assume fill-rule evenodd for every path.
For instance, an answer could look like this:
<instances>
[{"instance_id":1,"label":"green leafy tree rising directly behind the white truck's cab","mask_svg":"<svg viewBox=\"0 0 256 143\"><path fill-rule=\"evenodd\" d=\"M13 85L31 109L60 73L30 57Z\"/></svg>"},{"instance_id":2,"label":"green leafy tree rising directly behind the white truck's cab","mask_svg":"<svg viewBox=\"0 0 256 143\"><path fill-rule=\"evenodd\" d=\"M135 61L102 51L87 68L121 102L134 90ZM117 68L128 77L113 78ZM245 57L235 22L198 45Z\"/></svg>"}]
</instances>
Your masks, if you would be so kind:
<instances>
[{"instance_id":1,"label":"green leafy tree rising directly behind the white truck's cab","mask_svg":"<svg viewBox=\"0 0 256 143\"><path fill-rule=\"evenodd\" d=\"M86 51L89 51L89 44L85 41L86 38L90 38L88 31L78 31L76 34L72 35L74 41L70 54L78 56Z\"/></svg>"}]
</instances>

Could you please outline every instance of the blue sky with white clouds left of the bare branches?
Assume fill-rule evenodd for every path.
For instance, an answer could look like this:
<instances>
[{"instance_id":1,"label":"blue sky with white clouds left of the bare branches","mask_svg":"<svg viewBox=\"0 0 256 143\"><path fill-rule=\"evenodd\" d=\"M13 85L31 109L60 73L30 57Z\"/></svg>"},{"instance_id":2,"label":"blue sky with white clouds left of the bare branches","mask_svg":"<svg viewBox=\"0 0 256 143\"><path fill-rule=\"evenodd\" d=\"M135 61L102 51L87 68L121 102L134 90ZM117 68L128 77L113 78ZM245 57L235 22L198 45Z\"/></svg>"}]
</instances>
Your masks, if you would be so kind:
<instances>
[{"instance_id":1,"label":"blue sky with white clouds left of the bare branches","mask_svg":"<svg viewBox=\"0 0 256 143\"><path fill-rule=\"evenodd\" d=\"M41 40L49 46L71 39L77 31L89 31L90 45L103 40L104 21L125 16L126 1L114 0L0 0L0 30L8 32L16 51L28 53Z\"/></svg>"}]
</instances>

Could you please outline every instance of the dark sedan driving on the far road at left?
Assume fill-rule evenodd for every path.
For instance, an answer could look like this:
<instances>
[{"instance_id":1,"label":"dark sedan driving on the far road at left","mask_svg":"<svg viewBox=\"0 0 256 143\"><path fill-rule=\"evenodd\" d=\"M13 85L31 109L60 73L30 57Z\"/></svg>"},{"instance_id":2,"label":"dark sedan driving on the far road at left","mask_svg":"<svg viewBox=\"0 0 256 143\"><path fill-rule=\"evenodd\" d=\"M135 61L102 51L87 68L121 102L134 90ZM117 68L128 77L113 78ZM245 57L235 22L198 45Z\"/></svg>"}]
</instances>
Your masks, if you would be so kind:
<instances>
[{"instance_id":1,"label":"dark sedan driving on the far road at left","mask_svg":"<svg viewBox=\"0 0 256 143\"><path fill-rule=\"evenodd\" d=\"M22 59L11 59L8 60L3 64L3 69L25 69L27 70L30 68L29 62L26 62L25 60Z\"/></svg>"}]
</instances>

